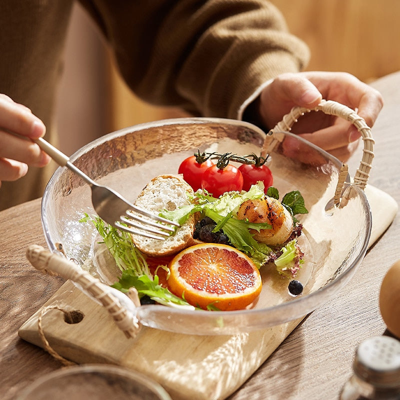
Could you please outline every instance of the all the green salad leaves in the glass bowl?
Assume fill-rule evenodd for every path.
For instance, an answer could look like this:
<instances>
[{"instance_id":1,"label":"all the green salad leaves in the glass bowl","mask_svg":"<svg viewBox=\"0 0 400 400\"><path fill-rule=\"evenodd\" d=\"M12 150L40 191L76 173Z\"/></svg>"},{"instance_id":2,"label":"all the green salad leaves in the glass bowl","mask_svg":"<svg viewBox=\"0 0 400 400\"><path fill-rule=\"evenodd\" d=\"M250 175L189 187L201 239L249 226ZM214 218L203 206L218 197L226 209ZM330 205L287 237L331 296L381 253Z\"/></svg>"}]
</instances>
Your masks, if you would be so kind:
<instances>
[{"instance_id":1,"label":"all the green salad leaves in the glass bowl","mask_svg":"<svg viewBox=\"0 0 400 400\"><path fill-rule=\"evenodd\" d=\"M163 210L160 215L183 224L190 215L200 212L216 223L213 231L222 230L229 238L230 243L252 258L258 268L273 261L280 274L291 278L303 262L303 253L297 244L297 240L292 239L282 247L272 248L265 243L257 242L249 232L249 229L257 231L268 229L271 227L268 223L252 223L245 219L233 217L243 201L264 196L263 189L263 183L258 182L246 192L231 191L224 193L219 198L211 196L206 191L197 191L190 196L191 204L181 206L173 211ZM276 199L279 198L279 192L274 187L268 188L267 195ZM298 191L285 194L281 202L293 216L294 224L298 221L294 218L295 214L308 212L304 206L304 199ZM102 237L101 243L107 246L115 259L116 265L121 270L121 277L111 285L112 287L122 292L127 292L130 287L135 287L140 298L148 296L160 304L193 308L184 299L175 296L163 287L156 274L153 276L145 256L136 248L129 233L119 231L98 216L91 217L86 213L79 221L94 224ZM166 265L159 265L159 267L166 269L167 273L169 272ZM212 309L212 306L209 309Z\"/></svg>"}]
</instances>

